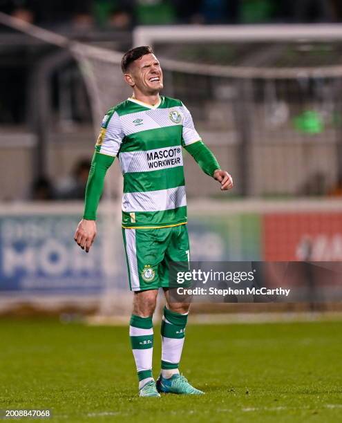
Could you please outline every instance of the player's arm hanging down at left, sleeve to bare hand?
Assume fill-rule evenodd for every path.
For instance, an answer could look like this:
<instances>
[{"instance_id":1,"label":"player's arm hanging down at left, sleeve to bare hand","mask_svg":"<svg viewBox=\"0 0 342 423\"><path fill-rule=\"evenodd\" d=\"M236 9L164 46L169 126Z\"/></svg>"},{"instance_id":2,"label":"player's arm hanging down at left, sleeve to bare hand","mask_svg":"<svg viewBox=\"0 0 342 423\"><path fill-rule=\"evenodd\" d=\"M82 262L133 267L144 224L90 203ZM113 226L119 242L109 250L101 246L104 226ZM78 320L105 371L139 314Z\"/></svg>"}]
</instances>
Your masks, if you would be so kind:
<instances>
[{"instance_id":1,"label":"player's arm hanging down at left, sleeve to bare hand","mask_svg":"<svg viewBox=\"0 0 342 423\"><path fill-rule=\"evenodd\" d=\"M105 115L95 145L95 153L86 185L84 215L74 235L77 244L86 252L89 252L97 232L96 212L104 189L104 178L113 164L123 138L124 134L117 113Z\"/></svg>"}]
</instances>

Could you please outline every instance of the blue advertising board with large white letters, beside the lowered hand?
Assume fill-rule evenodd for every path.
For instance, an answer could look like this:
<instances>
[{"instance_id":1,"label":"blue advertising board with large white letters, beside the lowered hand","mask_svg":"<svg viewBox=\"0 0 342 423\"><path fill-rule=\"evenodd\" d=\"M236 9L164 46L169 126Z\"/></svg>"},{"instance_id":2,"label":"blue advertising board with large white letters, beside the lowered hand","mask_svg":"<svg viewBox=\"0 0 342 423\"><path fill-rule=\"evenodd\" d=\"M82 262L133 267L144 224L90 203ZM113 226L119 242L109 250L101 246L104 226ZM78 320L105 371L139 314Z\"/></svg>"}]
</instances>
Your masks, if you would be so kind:
<instances>
[{"instance_id":1,"label":"blue advertising board with large white letters, beside the lowered hand","mask_svg":"<svg viewBox=\"0 0 342 423\"><path fill-rule=\"evenodd\" d=\"M0 216L0 292L99 292L101 238L91 254L73 240L79 216Z\"/></svg>"}]
</instances>

